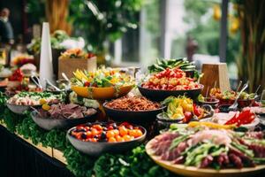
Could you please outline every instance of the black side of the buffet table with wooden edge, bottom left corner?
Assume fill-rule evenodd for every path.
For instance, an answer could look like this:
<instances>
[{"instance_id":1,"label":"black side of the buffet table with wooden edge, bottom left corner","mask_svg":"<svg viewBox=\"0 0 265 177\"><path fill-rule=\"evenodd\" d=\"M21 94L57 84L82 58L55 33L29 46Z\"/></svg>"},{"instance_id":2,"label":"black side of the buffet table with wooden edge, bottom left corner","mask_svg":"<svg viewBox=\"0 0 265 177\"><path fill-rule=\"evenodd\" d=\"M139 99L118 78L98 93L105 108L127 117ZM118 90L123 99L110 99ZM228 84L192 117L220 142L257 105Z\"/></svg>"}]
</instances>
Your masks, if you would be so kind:
<instances>
[{"instance_id":1,"label":"black side of the buffet table with wooden edge, bottom left corner","mask_svg":"<svg viewBox=\"0 0 265 177\"><path fill-rule=\"evenodd\" d=\"M73 176L65 165L52 157L51 148L35 146L0 126L1 176ZM50 154L49 154L50 153ZM49 155L48 155L49 154Z\"/></svg>"}]
</instances>

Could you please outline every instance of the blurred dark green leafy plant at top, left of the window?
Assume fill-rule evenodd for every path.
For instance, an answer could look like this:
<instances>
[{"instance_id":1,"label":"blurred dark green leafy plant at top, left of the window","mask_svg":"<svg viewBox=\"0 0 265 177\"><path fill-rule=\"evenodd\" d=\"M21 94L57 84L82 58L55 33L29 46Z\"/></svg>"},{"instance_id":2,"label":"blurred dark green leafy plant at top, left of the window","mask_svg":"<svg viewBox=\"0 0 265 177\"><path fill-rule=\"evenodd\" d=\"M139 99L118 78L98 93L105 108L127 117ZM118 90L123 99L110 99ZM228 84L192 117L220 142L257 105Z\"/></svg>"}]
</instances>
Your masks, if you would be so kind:
<instances>
[{"instance_id":1,"label":"blurred dark green leafy plant at top, left of the window","mask_svg":"<svg viewBox=\"0 0 265 177\"><path fill-rule=\"evenodd\" d=\"M128 28L138 27L141 0L72 0L69 20L74 35L82 35L94 51L104 50L104 42L114 42Z\"/></svg>"}]
</instances>

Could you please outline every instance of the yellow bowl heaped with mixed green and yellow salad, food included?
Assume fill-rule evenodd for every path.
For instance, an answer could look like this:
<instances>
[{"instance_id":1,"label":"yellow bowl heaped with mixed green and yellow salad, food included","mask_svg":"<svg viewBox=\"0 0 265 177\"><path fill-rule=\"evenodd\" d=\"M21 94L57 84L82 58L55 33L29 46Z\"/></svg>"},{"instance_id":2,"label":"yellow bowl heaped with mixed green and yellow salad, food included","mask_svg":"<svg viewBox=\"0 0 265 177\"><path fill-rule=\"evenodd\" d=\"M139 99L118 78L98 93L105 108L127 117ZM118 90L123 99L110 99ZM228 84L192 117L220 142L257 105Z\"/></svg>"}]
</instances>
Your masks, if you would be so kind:
<instances>
[{"instance_id":1,"label":"yellow bowl heaped with mixed green and yellow salad, food included","mask_svg":"<svg viewBox=\"0 0 265 177\"><path fill-rule=\"evenodd\" d=\"M77 95L105 100L125 96L134 86L133 77L119 69L98 69L95 72L77 70L72 78L72 90Z\"/></svg>"}]
</instances>

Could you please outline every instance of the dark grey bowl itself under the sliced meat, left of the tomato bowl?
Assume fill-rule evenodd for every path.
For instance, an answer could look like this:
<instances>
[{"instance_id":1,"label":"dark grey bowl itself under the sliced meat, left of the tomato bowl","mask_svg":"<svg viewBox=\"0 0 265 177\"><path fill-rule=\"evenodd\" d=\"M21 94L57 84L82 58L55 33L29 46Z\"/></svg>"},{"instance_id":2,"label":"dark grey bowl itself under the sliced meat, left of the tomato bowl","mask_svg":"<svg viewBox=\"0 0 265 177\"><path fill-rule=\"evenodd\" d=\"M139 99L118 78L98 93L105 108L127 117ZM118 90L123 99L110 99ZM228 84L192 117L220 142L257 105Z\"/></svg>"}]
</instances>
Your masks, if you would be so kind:
<instances>
[{"instance_id":1,"label":"dark grey bowl itself under the sliced meat, left of the tomato bowl","mask_svg":"<svg viewBox=\"0 0 265 177\"><path fill-rule=\"evenodd\" d=\"M96 114L86 116L84 118L77 119L54 119L54 118L42 118L37 111L31 112L31 118L34 122L45 130L51 130L54 128L70 128L73 126L77 126L79 124L84 124L87 122L95 122Z\"/></svg>"}]
</instances>

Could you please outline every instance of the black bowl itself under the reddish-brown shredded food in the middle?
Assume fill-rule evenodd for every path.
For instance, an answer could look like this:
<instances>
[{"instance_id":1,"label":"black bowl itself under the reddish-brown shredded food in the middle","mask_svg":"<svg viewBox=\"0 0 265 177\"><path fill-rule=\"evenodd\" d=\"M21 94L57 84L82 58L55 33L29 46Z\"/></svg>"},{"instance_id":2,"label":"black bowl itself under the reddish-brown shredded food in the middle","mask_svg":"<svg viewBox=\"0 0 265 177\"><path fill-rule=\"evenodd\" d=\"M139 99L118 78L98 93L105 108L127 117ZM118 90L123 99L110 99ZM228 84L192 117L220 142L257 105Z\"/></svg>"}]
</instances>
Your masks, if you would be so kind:
<instances>
[{"instance_id":1,"label":"black bowl itself under the reddish-brown shredded food in the middle","mask_svg":"<svg viewBox=\"0 0 265 177\"><path fill-rule=\"evenodd\" d=\"M108 104L108 102L105 102L103 104L103 108L107 116L110 117L110 119L113 119L114 121L118 122L127 121L133 124L140 125L155 121L156 115L160 112L163 112L163 110L166 108L166 106L163 106L156 110L134 112L125 110L115 110L110 107L107 107L106 104Z\"/></svg>"}]
</instances>

